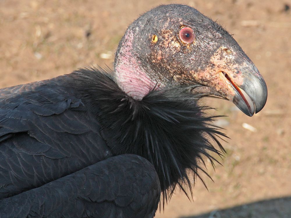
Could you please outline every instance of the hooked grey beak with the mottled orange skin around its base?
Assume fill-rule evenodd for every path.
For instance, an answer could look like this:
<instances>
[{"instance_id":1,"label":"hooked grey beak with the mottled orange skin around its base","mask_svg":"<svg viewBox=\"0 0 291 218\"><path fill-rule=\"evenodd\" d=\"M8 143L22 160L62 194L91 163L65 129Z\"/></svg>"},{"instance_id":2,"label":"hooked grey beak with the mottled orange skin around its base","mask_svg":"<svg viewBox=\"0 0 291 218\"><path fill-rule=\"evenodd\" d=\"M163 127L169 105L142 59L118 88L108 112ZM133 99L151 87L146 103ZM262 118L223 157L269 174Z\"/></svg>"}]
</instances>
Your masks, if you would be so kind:
<instances>
[{"instance_id":1,"label":"hooked grey beak with the mottled orange skin around its base","mask_svg":"<svg viewBox=\"0 0 291 218\"><path fill-rule=\"evenodd\" d=\"M242 112L253 116L265 106L267 85L257 67L241 50L225 53L220 47L203 72L193 73L199 84L195 92L210 93L232 101Z\"/></svg>"}]
</instances>

